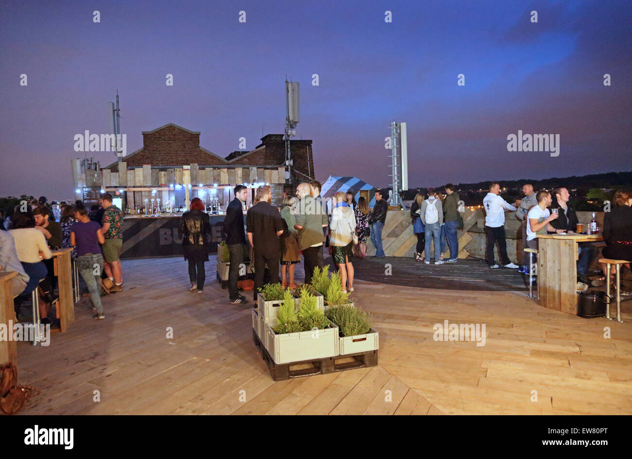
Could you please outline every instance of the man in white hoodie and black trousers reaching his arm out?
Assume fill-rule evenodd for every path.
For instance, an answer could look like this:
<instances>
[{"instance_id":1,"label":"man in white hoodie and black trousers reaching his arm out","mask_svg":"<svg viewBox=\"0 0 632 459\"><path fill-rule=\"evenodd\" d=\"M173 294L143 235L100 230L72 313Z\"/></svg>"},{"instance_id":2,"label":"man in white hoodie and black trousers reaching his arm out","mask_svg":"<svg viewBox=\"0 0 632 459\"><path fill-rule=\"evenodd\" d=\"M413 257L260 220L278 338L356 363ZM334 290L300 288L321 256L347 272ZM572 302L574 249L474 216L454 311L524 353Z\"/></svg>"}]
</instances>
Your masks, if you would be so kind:
<instances>
[{"instance_id":1,"label":"man in white hoodie and black trousers reaching his arm out","mask_svg":"<svg viewBox=\"0 0 632 459\"><path fill-rule=\"evenodd\" d=\"M499 267L494 261L494 245L498 241L499 254L504 267L517 268L507 257L507 243L505 242L505 212L515 211L516 207L509 204L500 197L501 185L497 181L492 181L489 186L489 193L483 199L485 207L485 232L487 233L487 247L485 249L485 259L491 269Z\"/></svg>"}]
</instances>

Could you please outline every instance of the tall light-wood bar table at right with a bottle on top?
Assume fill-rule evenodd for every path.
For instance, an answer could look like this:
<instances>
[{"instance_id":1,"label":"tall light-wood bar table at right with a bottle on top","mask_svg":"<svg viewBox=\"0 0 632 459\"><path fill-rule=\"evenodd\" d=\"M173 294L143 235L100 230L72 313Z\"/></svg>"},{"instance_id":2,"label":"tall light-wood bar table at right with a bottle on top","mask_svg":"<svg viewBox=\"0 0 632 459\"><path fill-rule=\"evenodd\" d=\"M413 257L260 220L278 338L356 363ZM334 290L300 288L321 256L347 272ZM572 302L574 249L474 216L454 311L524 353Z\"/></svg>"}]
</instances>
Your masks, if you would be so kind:
<instances>
[{"instance_id":1,"label":"tall light-wood bar table at right with a bottle on top","mask_svg":"<svg viewBox=\"0 0 632 459\"><path fill-rule=\"evenodd\" d=\"M599 242L601 235L538 236L538 298L540 306L577 314L578 242Z\"/></svg>"}]
</instances>

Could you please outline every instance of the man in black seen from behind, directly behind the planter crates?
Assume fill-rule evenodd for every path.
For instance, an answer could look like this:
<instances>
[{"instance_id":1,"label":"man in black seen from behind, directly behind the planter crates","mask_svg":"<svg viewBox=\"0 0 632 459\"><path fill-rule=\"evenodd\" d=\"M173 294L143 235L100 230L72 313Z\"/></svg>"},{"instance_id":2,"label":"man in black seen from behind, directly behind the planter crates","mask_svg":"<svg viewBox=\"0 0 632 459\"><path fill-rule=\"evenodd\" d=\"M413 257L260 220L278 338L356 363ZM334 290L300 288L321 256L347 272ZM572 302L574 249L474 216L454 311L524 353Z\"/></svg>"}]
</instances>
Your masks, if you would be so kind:
<instances>
[{"instance_id":1,"label":"man in black seen from behind, directly behind the planter crates","mask_svg":"<svg viewBox=\"0 0 632 459\"><path fill-rule=\"evenodd\" d=\"M270 284L279 283L279 260L281 259L281 241L283 234L283 218L279 209L272 207L270 187L257 188L257 204L248 209L246 214L246 231L248 241L255 257L255 291L264 285L264 270L267 265L270 271Z\"/></svg>"}]
</instances>

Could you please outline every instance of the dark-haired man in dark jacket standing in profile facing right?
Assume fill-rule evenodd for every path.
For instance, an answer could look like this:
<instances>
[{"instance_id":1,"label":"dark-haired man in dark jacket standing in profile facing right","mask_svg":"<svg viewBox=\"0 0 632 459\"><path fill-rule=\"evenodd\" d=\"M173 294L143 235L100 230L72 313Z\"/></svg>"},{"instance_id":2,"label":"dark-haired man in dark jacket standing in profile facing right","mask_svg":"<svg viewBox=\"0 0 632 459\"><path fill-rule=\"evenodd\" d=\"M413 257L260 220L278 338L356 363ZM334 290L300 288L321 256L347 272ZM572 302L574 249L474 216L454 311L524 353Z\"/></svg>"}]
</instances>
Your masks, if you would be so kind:
<instances>
[{"instance_id":1,"label":"dark-haired man in dark jacket standing in profile facing right","mask_svg":"<svg viewBox=\"0 0 632 459\"><path fill-rule=\"evenodd\" d=\"M240 295L237 288L239 267L243 260L243 246L246 243L246 234L243 231L243 203L246 202L248 188L237 185L234 188L235 199L228 204L226 218L224 219L224 233L226 233L226 245L230 255L228 267L228 299L233 304L247 303L246 297ZM219 256L219 255L218 255Z\"/></svg>"}]
</instances>

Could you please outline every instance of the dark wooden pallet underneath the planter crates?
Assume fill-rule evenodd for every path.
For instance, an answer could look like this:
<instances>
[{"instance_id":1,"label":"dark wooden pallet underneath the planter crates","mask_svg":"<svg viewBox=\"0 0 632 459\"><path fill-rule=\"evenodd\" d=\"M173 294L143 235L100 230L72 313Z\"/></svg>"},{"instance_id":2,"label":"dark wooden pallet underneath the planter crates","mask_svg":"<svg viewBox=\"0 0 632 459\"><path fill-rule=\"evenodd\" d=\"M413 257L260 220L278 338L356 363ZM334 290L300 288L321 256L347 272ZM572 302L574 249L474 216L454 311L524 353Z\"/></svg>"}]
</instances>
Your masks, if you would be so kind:
<instances>
[{"instance_id":1,"label":"dark wooden pallet underneath the planter crates","mask_svg":"<svg viewBox=\"0 0 632 459\"><path fill-rule=\"evenodd\" d=\"M264 359L268 369L270 370L270 377L274 381L284 381L293 377L301 376L313 376L315 374L327 374L334 371L353 370L362 367L375 367L377 365L377 350L358 352L348 355L337 355L336 357L315 358L313 360L301 360L300 362L289 362L288 364L275 364L274 360L270 356L270 353L265 348L257 336L257 332L253 329L252 341L257 346L261 358ZM353 360L349 362L349 358ZM337 362L339 360L345 360L345 362ZM311 367L301 369L290 369L291 366L311 364Z\"/></svg>"}]
</instances>

